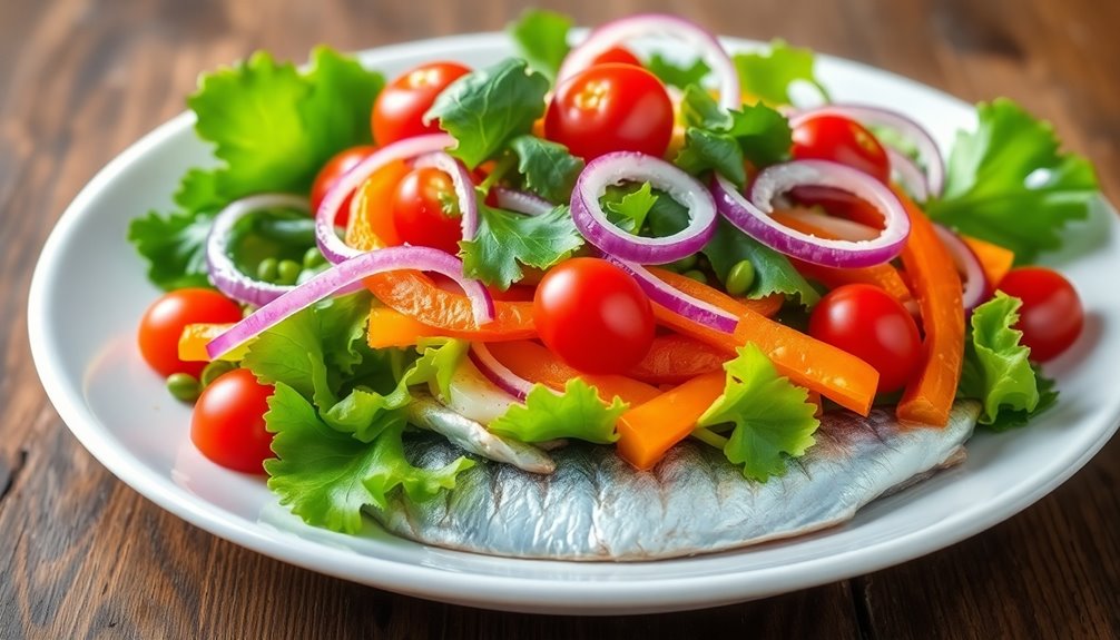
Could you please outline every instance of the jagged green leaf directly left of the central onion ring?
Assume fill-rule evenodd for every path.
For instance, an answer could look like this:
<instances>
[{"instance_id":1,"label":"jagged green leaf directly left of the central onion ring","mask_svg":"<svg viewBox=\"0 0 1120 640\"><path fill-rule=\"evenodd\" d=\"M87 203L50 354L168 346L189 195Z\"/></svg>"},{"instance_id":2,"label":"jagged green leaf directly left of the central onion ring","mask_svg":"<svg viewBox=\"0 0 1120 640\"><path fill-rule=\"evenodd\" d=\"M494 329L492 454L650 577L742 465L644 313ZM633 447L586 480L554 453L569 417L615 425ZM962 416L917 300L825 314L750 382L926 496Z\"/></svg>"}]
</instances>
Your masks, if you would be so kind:
<instances>
[{"instance_id":1,"label":"jagged green leaf directly left of the central onion ring","mask_svg":"<svg viewBox=\"0 0 1120 640\"><path fill-rule=\"evenodd\" d=\"M459 243L463 273L503 291L521 280L521 265L548 269L584 245L567 205L522 216L478 204L478 233Z\"/></svg>"}]
</instances>

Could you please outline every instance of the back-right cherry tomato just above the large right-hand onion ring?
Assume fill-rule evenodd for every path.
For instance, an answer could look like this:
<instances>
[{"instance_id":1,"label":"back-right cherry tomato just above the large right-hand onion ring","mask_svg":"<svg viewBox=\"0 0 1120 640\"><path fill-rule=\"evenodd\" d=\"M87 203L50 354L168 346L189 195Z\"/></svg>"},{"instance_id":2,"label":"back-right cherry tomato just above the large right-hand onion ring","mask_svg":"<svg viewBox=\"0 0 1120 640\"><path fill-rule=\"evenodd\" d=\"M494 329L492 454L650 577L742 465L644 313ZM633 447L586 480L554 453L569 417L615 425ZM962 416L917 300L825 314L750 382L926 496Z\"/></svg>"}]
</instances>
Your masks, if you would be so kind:
<instances>
[{"instance_id":1,"label":"back-right cherry tomato just above the large right-hand onion ring","mask_svg":"<svg viewBox=\"0 0 1120 640\"><path fill-rule=\"evenodd\" d=\"M796 160L831 160L869 173L880 182L890 180L890 160L883 144L860 123L839 115L816 115L793 130L792 154Z\"/></svg>"}]
</instances>

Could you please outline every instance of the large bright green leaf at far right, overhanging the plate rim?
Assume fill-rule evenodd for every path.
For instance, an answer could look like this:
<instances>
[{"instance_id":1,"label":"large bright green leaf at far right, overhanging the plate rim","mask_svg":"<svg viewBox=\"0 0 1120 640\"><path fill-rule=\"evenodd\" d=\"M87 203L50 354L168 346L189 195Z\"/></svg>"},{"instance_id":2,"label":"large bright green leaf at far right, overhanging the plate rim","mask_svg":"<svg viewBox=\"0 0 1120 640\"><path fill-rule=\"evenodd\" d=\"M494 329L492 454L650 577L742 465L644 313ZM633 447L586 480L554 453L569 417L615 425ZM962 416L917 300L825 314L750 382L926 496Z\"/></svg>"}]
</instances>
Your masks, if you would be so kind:
<instances>
[{"instance_id":1,"label":"large bright green leaf at far right, overhanging the plate rim","mask_svg":"<svg viewBox=\"0 0 1120 640\"><path fill-rule=\"evenodd\" d=\"M1062 226L1088 216L1098 192L1093 168L1062 152L1051 124L1009 100L980 104L977 114L976 132L958 133L944 195L927 213L1014 251L1017 263L1033 262L1061 245Z\"/></svg>"}]
</instances>

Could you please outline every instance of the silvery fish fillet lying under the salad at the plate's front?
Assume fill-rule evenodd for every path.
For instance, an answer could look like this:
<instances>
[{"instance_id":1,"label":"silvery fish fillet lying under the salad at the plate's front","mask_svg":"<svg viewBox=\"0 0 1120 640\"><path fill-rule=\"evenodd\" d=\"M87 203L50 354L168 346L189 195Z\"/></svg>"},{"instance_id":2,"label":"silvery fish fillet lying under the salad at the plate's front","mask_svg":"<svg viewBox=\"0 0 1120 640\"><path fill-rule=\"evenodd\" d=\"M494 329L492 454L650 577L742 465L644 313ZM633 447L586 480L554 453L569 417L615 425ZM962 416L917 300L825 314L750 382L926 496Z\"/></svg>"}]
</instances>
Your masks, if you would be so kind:
<instances>
[{"instance_id":1,"label":"silvery fish fillet lying under the salad at the plate's front","mask_svg":"<svg viewBox=\"0 0 1120 640\"><path fill-rule=\"evenodd\" d=\"M613 448L573 443L551 452L551 476L480 461L454 491L419 503L398 497L372 515L405 538L498 556L648 561L719 552L839 525L960 462L979 412L978 403L959 402L944 429L899 423L889 410L827 414L816 444L764 483L698 442L674 446L652 471L635 470ZM407 453L420 467L460 455L440 440L411 440Z\"/></svg>"}]
</instances>

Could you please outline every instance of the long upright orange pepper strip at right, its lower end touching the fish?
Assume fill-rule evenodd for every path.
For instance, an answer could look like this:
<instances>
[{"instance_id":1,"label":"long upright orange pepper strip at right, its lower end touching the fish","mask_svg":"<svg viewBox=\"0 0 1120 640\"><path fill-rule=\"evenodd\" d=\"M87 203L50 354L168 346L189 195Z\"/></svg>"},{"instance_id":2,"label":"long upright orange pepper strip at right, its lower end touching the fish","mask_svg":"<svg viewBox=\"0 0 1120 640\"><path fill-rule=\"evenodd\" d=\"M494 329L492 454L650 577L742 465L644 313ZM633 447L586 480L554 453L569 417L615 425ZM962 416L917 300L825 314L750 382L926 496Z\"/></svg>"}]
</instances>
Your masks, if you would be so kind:
<instances>
[{"instance_id":1,"label":"long upright orange pepper strip at right, its lower end touching the fish","mask_svg":"<svg viewBox=\"0 0 1120 640\"><path fill-rule=\"evenodd\" d=\"M906 385L896 414L944 426L956 396L964 359L964 307L961 277L933 223L900 189L894 189L911 218L911 233L903 248L903 265L914 283L925 339L922 367Z\"/></svg>"}]
</instances>

